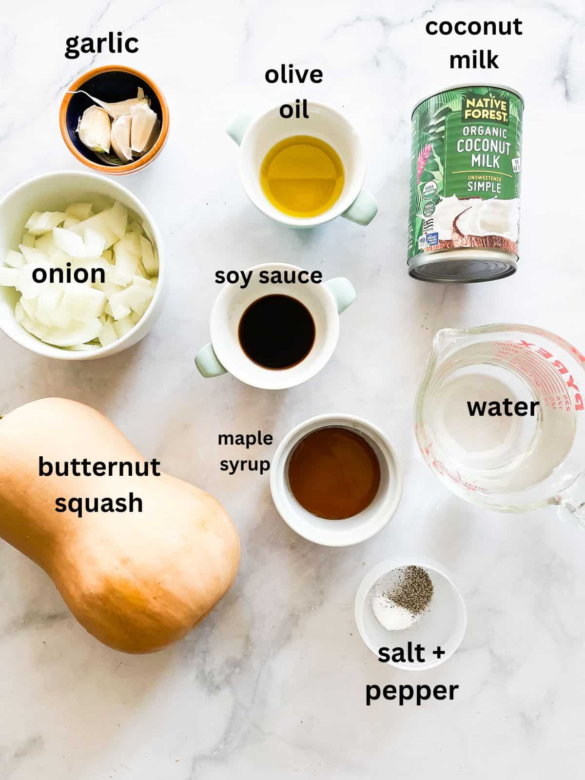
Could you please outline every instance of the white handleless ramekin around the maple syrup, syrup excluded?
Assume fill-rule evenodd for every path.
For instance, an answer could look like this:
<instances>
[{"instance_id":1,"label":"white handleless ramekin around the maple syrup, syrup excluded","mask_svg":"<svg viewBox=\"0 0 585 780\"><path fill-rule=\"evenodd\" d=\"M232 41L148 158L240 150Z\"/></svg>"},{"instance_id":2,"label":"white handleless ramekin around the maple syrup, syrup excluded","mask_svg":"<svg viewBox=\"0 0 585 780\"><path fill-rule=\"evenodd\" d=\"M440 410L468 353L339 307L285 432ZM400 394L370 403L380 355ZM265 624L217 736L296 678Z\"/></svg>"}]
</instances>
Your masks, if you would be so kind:
<instances>
[{"instance_id":1,"label":"white handleless ramekin around the maple syrup, syrup excluded","mask_svg":"<svg viewBox=\"0 0 585 780\"><path fill-rule=\"evenodd\" d=\"M307 512L294 497L288 479L289 459L299 441L322 427L346 427L360 434L380 463L378 495L360 514L345 520L325 520ZM399 505L402 468L388 437L380 428L352 414L321 414L305 420L282 439L270 468L270 489L278 514L297 534L328 547L348 547L378 534Z\"/></svg>"}]
</instances>

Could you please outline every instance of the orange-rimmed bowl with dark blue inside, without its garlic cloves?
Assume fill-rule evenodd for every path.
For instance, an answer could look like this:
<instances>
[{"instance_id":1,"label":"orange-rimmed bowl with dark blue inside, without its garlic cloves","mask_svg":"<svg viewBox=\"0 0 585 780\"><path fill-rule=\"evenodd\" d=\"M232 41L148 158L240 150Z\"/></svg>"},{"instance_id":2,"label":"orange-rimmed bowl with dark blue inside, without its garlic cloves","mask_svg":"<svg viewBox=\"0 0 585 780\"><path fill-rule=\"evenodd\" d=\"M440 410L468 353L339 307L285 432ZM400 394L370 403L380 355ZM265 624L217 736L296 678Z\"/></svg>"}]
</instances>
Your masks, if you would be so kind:
<instances>
[{"instance_id":1,"label":"orange-rimmed bowl with dark blue inside, without its garlic cloves","mask_svg":"<svg viewBox=\"0 0 585 780\"><path fill-rule=\"evenodd\" d=\"M134 70L125 65L105 65L101 68L94 68L74 81L68 91L85 90L90 95L99 97L102 101L115 103L127 100L129 97L136 97L138 87L142 87L144 94L150 97L151 108L161 122L161 133L151 151L126 165L107 165L97 157L95 152L81 143L80 137L77 135L77 125L85 109L94 105L90 97L84 94L66 94L63 97L59 109L61 135L69 147L69 151L80 162L83 162L83 165L108 176L126 176L126 174L146 168L161 153L168 137L167 101L158 85L144 73L140 73L140 70Z\"/></svg>"}]
</instances>

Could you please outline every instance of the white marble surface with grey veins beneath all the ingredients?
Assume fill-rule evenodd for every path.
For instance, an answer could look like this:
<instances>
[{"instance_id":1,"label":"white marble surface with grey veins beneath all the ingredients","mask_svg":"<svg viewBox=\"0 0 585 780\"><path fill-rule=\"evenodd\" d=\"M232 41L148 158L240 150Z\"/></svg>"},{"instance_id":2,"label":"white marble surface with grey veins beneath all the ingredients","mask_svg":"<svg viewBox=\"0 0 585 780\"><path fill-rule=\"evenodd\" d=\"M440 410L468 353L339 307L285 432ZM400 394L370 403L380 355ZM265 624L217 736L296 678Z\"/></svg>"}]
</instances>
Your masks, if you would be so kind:
<instances>
[{"instance_id":1,"label":"white marble surface with grey veins beneath all the ingredients","mask_svg":"<svg viewBox=\"0 0 585 780\"><path fill-rule=\"evenodd\" d=\"M414 282L405 264L410 108L461 81L449 53L478 43L431 39L424 23L516 13L523 36L484 46L499 52L495 81L517 87L527 103L519 272L486 285ZM0 335L1 410L44 395L96 406L145 456L220 498L243 555L236 585L199 629L168 651L135 658L101 647L47 576L0 544L2 780L581 775L585 534L554 512L491 515L450 495L420 458L411 417L438 328L525 321L585 345L583 19L577 0L514 10L424 0L5 5L2 193L38 173L76 168L58 133L58 105L90 66L144 69L165 91L172 129L161 158L123 182L165 236L170 296L154 332L128 352L77 364L36 358ZM139 37L140 52L64 58L67 36L108 30ZM264 71L281 62L321 68L323 83L268 85ZM291 95L337 105L359 127L367 187L380 203L369 228L338 220L292 232L246 200L225 123L239 108ZM271 259L354 282L358 299L342 317L334 358L286 392L229 376L204 381L193 355L208 338L214 271ZM354 548L303 541L277 516L268 476L218 469L219 431L261 428L279 441L329 410L383 427L405 471L392 523ZM470 613L459 652L418 675L380 665L353 622L363 573L409 551L452 570ZM457 683L459 694L422 707L365 707L366 683L415 678Z\"/></svg>"}]
</instances>

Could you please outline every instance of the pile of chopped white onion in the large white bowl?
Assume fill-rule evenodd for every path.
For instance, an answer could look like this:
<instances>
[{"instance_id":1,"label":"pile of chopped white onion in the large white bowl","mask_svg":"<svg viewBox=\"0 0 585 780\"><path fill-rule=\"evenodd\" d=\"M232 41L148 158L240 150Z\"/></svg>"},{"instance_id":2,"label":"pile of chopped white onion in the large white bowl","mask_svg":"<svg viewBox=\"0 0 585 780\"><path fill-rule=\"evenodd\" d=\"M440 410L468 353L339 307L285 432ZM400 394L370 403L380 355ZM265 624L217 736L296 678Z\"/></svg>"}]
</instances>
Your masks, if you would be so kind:
<instances>
[{"instance_id":1,"label":"pile of chopped white onion in the large white bowl","mask_svg":"<svg viewBox=\"0 0 585 780\"><path fill-rule=\"evenodd\" d=\"M102 207L97 214L93 204L83 203L65 212L35 211L20 251L9 250L0 265L0 285L21 293L16 321L63 349L89 351L115 343L140 321L158 282L156 246L144 235L150 231L129 218L122 204L104 208L104 199L97 200ZM37 268L45 271L42 282L33 278ZM80 268L87 280L68 281ZM51 281L53 269L63 274Z\"/></svg>"}]
</instances>

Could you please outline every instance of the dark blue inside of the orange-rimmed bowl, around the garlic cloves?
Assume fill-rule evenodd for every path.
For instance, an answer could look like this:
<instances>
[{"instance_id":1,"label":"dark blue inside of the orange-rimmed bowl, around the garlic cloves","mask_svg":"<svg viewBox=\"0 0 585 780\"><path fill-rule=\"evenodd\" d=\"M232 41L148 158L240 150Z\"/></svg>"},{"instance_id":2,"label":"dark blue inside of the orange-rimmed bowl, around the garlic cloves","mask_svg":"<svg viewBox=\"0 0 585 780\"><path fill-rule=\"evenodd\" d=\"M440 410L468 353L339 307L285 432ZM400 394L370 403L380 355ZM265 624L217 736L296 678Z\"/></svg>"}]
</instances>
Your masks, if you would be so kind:
<instances>
[{"instance_id":1,"label":"dark blue inside of the orange-rimmed bowl, around the garlic cloves","mask_svg":"<svg viewBox=\"0 0 585 780\"><path fill-rule=\"evenodd\" d=\"M133 73L126 73L123 70L108 70L105 73L98 73L97 76L88 79L79 88L89 92L89 94L94 97L99 97L100 100L103 100L106 103L117 103L118 101L128 100L130 97L136 97L138 87L142 87L144 95L150 97L151 108L162 124L162 109L158 97L154 94L151 87L148 86L147 82L141 79L140 76L135 76ZM90 107L90 105L96 104L94 104L87 95L74 94L71 96L66 113L67 132L69 133L71 143L84 158L90 162L97 163L97 165L105 165L105 162L100 160L100 158L97 157L97 154L94 154L93 151L86 146L83 146L80 137L77 135L77 125L79 124L80 116L86 108Z\"/></svg>"}]
</instances>

